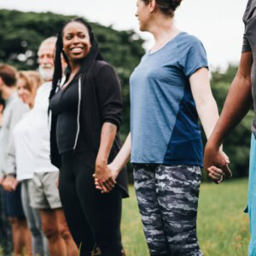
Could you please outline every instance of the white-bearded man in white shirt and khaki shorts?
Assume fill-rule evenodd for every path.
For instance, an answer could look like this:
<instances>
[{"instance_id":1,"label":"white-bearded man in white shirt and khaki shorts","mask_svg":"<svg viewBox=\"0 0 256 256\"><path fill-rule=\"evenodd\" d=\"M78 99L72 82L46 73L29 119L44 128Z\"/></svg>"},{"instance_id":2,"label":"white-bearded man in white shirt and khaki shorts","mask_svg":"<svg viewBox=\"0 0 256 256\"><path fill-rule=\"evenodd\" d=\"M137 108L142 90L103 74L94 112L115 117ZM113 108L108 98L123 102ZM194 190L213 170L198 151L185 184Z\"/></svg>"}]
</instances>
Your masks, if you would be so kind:
<instances>
[{"instance_id":1,"label":"white-bearded man in white shirt and khaki shorts","mask_svg":"<svg viewBox=\"0 0 256 256\"><path fill-rule=\"evenodd\" d=\"M53 256L77 256L78 247L67 228L61 208L59 191L55 181L59 170L49 159L49 92L54 73L56 38L45 39L38 49L39 73L46 83L37 91L31 126L34 159L34 176L29 186L31 206L39 209L44 234L48 239L49 254Z\"/></svg>"}]
</instances>

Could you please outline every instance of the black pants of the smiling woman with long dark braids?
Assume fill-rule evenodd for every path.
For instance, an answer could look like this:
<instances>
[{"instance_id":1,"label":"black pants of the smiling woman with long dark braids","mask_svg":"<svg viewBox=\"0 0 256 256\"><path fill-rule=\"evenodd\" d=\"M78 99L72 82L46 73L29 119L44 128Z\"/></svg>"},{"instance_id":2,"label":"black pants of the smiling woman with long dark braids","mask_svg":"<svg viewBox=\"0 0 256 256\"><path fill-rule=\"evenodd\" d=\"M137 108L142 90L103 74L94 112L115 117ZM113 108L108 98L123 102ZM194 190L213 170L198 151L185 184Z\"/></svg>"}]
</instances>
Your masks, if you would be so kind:
<instances>
[{"instance_id":1,"label":"black pants of the smiling woman with long dark braids","mask_svg":"<svg viewBox=\"0 0 256 256\"><path fill-rule=\"evenodd\" d=\"M83 157L81 153L61 156L59 189L68 228L80 256L90 256L95 245L102 256L122 255L121 191L117 186L108 194L96 190L94 170Z\"/></svg>"}]
</instances>

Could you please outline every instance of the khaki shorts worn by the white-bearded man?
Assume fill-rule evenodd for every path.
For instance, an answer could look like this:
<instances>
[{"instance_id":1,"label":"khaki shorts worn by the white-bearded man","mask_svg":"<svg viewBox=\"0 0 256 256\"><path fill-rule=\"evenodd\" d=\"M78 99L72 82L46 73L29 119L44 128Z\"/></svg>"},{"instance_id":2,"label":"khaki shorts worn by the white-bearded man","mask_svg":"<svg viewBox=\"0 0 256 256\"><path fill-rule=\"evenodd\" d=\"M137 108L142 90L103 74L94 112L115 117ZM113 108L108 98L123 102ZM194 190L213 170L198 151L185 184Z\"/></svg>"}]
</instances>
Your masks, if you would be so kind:
<instances>
[{"instance_id":1,"label":"khaki shorts worn by the white-bearded man","mask_svg":"<svg viewBox=\"0 0 256 256\"><path fill-rule=\"evenodd\" d=\"M37 209L61 208L59 189L55 184L58 177L59 172L34 173L32 182L29 184L31 207Z\"/></svg>"}]
</instances>

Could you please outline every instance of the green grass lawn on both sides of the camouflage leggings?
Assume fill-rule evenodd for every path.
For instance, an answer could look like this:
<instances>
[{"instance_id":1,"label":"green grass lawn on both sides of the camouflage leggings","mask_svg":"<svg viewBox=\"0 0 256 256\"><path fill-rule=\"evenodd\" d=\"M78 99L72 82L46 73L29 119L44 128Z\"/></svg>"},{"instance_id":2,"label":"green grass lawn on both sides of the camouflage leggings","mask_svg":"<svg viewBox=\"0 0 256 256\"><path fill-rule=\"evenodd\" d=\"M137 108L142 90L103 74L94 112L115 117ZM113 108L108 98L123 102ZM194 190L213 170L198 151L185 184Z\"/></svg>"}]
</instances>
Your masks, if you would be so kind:
<instances>
[{"instance_id":1,"label":"green grass lawn on both sides of the camouflage leggings","mask_svg":"<svg viewBox=\"0 0 256 256\"><path fill-rule=\"evenodd\" d=\"M147 256L134 188L124 200L122 235L127 256ZM243 208L247 204L247 179L220 185L203 183L199 200L198 238L205 256L246 256L249 225Z\"/></svg>"}]
</instances>

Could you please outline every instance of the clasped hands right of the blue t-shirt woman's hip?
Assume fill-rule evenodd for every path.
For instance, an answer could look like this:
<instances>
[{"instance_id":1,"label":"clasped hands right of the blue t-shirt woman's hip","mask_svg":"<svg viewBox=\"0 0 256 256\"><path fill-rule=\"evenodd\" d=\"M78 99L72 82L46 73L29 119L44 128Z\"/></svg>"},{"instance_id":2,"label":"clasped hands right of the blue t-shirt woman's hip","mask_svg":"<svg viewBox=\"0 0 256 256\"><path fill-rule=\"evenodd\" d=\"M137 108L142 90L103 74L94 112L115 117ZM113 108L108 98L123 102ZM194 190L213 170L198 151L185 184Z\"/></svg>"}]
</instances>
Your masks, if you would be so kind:
<instances>
[{"instance_id":1,"label":"clasped hands right of the blue t-shirt woman's hip","mask_svg":"<svg viewBox=\"0 0 256 256\"><path fill-rule=\"evenodd\" d=\"M225 177L232 177L229 157L222 150L205 149L204 167L215 183L221 183Z\"/></svg>"}]
</instances>

